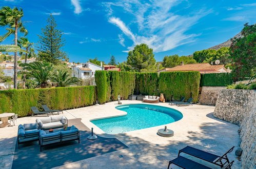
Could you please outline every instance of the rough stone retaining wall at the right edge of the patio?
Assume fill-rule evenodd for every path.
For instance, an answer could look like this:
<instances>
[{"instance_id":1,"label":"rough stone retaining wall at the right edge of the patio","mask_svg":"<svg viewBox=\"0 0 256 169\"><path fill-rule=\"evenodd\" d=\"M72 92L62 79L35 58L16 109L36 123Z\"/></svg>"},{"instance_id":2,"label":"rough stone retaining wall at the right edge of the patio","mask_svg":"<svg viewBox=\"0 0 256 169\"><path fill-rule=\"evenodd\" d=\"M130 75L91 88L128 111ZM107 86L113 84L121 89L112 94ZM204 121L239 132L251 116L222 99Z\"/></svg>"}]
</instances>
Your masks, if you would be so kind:
<instances>
[{"instance_id":1,"label":"rough stone retaining wall at the right edge of the patio","mask_svg":"<svg viewBox=\"0 0 256 169\"><path fill-rule=\"evenodd\" d=\"M240 125L242 168L255 167L256 90L221 90L213 116Z\"/></svg>"}]
</instances>

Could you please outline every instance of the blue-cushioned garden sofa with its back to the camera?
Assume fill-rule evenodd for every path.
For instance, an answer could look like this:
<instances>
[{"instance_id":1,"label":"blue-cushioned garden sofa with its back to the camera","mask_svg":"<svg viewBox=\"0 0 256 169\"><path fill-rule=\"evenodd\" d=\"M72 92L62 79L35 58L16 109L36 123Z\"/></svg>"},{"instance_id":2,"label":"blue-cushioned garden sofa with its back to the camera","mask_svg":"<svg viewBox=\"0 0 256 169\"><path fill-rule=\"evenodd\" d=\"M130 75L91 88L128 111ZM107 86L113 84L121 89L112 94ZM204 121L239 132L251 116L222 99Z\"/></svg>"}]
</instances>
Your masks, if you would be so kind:
<instances>
[{"instance_id":1,"label":"blue-cushioned garden sofa with its back to the camera","mask_svg":"<svg viewBox=\"0 0 256 169\"><path fill-rule=\"evenodd\" d=\"M68 127L66 131L61 129L60 131L54 133L46 133L45 131L40 131L40 151L42 152L42 147L53 144L53 143L63 143L65 141L78 140L80 143L80 132L72 125Z\"/></svg>"}]
</instances>

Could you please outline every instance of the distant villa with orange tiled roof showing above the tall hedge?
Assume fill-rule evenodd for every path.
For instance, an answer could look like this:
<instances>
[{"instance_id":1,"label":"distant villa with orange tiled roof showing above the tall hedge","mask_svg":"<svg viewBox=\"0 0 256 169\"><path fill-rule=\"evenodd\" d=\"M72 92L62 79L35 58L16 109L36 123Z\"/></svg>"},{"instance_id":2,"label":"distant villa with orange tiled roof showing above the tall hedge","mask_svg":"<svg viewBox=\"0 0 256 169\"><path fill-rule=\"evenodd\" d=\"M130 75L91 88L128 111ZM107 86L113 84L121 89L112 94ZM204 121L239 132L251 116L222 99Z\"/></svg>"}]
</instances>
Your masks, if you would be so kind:
<instances>
[{"instance_id":1,"label":"distant villa with orange tiled roof showing above the tall hedge","mask_svg":"<svg viewBox=\"0 0 256 169\"><path fill-rule=\"evenodd\" d=\"M205 64L187 64L181 63L179 66L173 68L164 68L162 70L156 71L160 72L173 72L173 71L199 71L201 74L205 73L230 73L229 69L226 69L224 65L210 65Z\"/></svg>"}]
</instances>

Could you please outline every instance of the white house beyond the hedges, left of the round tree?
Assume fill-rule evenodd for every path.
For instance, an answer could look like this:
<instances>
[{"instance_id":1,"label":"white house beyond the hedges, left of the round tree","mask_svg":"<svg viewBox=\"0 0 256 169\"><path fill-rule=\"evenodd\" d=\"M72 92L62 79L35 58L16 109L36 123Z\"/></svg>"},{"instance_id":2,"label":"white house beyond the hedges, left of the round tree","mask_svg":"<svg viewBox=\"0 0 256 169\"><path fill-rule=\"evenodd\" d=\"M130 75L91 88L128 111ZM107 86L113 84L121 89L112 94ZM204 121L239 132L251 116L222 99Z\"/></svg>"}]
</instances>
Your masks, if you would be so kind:
<instances>
[{"instance_id":1,"label":"white house beyond the hedges, left of the round tree","mask_svg":"<svg viewBox=\"0 0 256 169\"><path fill-rule=\"evenodd\" d=\"M102 66L86 62L85 64L79 64L72 67L72 76L77 78L86 79L94 77L96 70L103 70Z\"/></svg>"}]
</instances>

